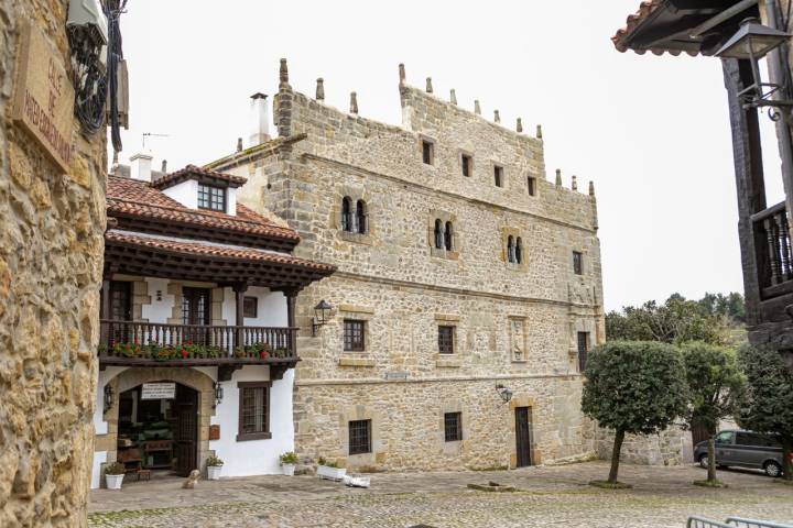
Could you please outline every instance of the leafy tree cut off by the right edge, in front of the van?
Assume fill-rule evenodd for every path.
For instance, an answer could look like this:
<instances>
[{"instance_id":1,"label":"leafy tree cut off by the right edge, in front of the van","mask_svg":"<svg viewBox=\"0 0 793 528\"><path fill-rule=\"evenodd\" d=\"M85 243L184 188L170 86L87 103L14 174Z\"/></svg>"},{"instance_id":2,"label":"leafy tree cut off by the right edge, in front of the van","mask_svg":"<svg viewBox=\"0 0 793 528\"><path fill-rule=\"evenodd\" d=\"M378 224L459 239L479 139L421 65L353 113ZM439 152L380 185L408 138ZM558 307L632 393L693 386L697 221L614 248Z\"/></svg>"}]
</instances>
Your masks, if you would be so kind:
<instances>
[{"instance_id":1,"label":"leafy tree cut off by the right edge, in front of the van","mask_svg":"<svg viewBox=\"0 0 793 528\"><path fill-rule=\"evenodd\" d=\"M767 348L743 346L738 358L748 382L738 424L757 432L779 436L782 474L793 481L793 371L779 352Z\"/></svg>"}]
</instances>

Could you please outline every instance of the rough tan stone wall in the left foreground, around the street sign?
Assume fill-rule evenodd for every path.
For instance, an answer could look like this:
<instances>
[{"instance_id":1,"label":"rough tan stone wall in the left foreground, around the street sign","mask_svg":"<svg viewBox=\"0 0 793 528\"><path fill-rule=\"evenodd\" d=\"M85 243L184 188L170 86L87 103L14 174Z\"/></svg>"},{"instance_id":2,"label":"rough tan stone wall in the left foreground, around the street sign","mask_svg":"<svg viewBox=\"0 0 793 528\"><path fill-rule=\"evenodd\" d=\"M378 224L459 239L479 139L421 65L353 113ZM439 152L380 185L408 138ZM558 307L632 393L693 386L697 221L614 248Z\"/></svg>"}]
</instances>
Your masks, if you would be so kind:
<instances>
[{"instance_id":1,"label":"rough tan stone wall in the left foreground, around the street sign","mask_svg":"<svg viewBox=\"0 0 793 528\"><path fill-rule=\"evenodd\" d=\"M0 526L85 526L105 227L105 136L64 174L9 119L23 21L68 65L66 0L0 1ZM68 68L68 66L67 66Z\"/></svg>"}]
</instances>

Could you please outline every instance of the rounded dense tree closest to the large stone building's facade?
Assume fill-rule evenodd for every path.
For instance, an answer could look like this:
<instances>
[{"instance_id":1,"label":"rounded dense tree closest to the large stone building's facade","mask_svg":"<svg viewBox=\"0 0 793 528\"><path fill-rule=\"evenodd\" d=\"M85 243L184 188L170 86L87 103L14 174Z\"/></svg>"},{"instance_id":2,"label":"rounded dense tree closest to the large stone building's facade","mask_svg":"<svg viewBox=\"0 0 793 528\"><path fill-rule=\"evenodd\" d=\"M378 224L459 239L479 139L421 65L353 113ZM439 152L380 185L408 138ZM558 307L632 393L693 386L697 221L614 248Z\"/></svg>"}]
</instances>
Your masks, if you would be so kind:
<instances>
[{"instance_id":1,"label":"rounded dense tree closest to the large stone building's facade","mask_svg":"<svg viewBox=\"0 0 793 528\"><path fill-rule=\"evenodd\" d=\"M612 341L591 352L584 376L582 410L615 430L608 483L617 485L626 433L658 433L685 413L683 358L665 343Z\"/></svg>"}]
</instances>

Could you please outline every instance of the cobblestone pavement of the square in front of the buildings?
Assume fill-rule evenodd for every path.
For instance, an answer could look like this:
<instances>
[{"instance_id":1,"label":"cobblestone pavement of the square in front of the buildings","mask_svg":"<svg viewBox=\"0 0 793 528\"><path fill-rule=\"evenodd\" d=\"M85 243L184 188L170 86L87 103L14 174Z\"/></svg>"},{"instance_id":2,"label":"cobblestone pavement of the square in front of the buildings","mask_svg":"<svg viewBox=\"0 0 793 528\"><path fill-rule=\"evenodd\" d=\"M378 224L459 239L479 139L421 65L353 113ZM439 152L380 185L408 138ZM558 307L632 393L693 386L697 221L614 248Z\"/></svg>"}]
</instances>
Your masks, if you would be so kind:
<instances>
[{"instance_id":1,"label":"cobblestone pavement of the square in front of the buildings","mask_svg":"<svg viewBox=\"0 0 793 528\"><path fill-rule=\"evenodd\" d=\"M729 487L692 485L697 468L622 465L632 490L599 490L607 464L588 462L514 471L370 475L369 490L347 488L315 476L257 476L199 482L124 484L91 493L89 526L187 527L674 527L688 515L730 515L793 522L793 486L748 471L721 471ZM496 481L514 493L468 490Z\"/></svg>"}]
</instances>

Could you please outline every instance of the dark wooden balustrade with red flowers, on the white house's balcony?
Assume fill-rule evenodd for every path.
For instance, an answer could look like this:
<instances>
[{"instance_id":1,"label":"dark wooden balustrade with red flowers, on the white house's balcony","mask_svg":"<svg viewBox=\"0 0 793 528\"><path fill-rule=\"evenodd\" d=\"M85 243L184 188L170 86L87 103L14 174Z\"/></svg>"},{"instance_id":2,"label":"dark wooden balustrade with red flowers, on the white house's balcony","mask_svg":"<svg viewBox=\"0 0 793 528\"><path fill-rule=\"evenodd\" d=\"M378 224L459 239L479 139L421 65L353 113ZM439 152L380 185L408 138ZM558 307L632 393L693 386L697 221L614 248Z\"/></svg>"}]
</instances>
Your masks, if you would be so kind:
<instances>
[{"instance_id":1,"label":"dark wooden balustrade with red flowers, on the white house's balcony","mask_svg":"<svg viewBox=\"0 0 793 528\"><path fill-rule=\"evenodd\" d=\"M144 352L171 352L176 355L186 349L183 352L185 359L189 354L191 359L297 360L293 339L297 331L295 328L167 324L105 319L99 324L100 358L120 354L135 358Z\"/></svg>"}]
</instances>

